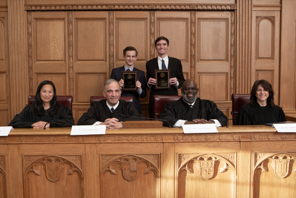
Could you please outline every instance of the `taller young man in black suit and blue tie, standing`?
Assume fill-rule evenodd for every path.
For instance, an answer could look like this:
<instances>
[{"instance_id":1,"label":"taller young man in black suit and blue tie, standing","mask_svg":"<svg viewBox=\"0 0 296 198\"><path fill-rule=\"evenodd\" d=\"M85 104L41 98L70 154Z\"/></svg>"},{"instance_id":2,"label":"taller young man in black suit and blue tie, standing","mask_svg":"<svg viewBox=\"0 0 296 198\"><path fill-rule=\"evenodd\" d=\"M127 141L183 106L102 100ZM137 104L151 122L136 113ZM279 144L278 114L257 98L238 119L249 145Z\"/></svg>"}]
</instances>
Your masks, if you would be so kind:
<instances>
[{"instance_id":1,"label":"taller young man in black suit and blue tie, standing","mask_svg":"<svg viewBox=\"0 0 296 198\"><path fill-rule=\"evenodd\" d=\"M178 95L185 81L182 64L179 59L169 57L167 50L169 48L169 40L163 36L155 40L155 49L157 50L157 58L146 62L146 87L151 89L148 105L149 118L153 118L153 95ZM155 89L155 69L170 69L170 89Z\"/></svg>"}]
</instances>

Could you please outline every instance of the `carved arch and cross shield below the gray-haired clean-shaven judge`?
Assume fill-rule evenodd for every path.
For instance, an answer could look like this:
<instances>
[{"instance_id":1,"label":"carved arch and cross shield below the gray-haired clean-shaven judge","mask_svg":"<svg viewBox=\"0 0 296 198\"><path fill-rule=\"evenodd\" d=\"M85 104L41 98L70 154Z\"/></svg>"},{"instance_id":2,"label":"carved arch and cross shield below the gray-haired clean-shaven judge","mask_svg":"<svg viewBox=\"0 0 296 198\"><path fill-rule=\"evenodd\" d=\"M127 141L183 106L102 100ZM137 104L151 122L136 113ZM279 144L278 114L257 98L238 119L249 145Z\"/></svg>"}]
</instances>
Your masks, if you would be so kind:
<instances>
[{"instance_id":1,"label":"carved arch and cross shield below the gray-haired clean-shaven judge","mask_svg":"<svg viewBox=\"0 0 296 198\"><path fill-rule=\"evenodd\" d=\"M147 165L144 174L148 174L150 171L154 172L155 177L159 177L159 154L157 155L102 155L102 159L109 159L104 161L104 165L101 168L101 175L104 172L109 171L112 175L116 175L116 171L113 168L115 164L120 165L123 178L127 181L132 181L137 176L137 170L141 163ZM152 160L152 161L151 161ZM155 164L157 162L157 164Z\"/></svg>"}]
</instances>

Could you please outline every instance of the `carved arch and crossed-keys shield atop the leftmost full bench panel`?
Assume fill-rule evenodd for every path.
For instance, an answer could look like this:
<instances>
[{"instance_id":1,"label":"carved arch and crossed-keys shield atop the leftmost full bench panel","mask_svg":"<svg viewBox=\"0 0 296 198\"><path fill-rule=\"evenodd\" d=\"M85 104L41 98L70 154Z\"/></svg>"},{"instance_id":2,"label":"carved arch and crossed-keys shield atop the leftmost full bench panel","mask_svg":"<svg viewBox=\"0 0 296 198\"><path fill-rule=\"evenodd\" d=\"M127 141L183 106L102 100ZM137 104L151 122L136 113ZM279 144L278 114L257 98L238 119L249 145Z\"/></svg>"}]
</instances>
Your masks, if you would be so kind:
<instances>
[{"instance_id":1,"label":"carved arch and crossed-keys shield atop the leftmost full bench panel","mask_svg":"<svg viewBox=\"0 0 296 198\"><path fill-rule=\"evenodd\" d=\"M65 164L70 165L67 175L72 175L76 172L79 178L83 178L81 165L80 167L78 165L78 162L81 162L81 156L23 156L23 158L25 161L25 178L30 172L40 176L40 170L37 168L40 164L44 166L43 169L46 173L46 178L52 182L56 182L60 179ZM78 159L76 160L76 158Z\"/></svg>"}]
</instances>

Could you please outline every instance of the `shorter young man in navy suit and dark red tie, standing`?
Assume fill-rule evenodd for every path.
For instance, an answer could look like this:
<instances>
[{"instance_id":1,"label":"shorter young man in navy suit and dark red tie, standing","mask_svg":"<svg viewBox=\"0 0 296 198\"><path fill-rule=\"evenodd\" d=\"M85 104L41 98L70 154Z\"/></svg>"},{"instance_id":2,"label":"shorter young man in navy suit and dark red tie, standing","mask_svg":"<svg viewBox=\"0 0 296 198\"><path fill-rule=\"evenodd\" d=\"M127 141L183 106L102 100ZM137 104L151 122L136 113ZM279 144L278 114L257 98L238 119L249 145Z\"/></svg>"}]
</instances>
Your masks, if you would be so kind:
<instances>
[{"instance_id":1,"label":"shorter young man in navy suit and dark red tie, standing","mask_svg":"<svg viewBox=\"0 0 296 198\"><path fill-rule=\"evenodd\" d=\"M136 48L134 47L126 47L123 50L123 58L126 61L126 63L122 67L118 67L115 69L112 69L111 72L111 79L115 79L120 84L120 90L123 87L123 79L122 78L122 71L138 71L138 81L136 82L137 91L122 91L121 96L124 97L133 97L133 105L136 107L139 114L142 114L141 111L141 102L139 99L139 96L141 98L145 98L147 91L145 86L145 72L137 69L134 67L134 63L137 60L138 52Z\"/></svg>"}]
</instances>

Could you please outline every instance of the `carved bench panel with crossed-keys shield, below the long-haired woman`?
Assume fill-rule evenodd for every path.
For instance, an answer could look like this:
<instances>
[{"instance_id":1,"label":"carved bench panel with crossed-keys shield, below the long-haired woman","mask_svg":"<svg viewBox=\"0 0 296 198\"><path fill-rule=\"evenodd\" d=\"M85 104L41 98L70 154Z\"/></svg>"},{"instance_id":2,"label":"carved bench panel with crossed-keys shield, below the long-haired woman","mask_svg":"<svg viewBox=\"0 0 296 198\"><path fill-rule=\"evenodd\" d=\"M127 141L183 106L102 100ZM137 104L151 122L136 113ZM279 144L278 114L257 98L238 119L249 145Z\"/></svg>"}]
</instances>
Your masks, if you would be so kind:
<instances>
[{"instance_id":1,"label":"carved bench panel with crossed-keys shield, below the long-haired woman","mask_svg":"<svg viewBox=\"0 0 296 198\"><path fill-rule=\"evenodd\" d=\"M23 155L24 197L84 197L82 155Z\"/></svg>"}]
</instances>

